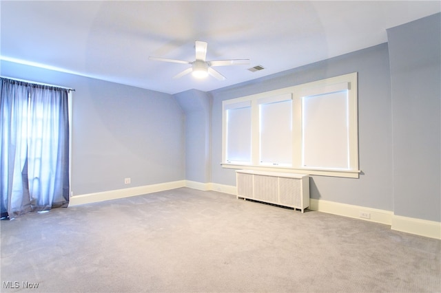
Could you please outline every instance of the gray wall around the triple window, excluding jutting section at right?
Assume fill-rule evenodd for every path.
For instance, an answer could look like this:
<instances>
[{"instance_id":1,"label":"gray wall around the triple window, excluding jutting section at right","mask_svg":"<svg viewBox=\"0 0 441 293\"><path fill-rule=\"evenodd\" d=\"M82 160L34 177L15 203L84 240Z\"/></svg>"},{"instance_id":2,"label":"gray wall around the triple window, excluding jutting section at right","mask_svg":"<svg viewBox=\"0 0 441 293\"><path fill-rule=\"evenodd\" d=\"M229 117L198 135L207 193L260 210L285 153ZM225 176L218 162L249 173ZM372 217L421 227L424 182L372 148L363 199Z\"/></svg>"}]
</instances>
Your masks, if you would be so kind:
<instances>
[{"instance_id":1,"label":"gray wall around the triple window, excluding jutting section at right","mask_svg":"<svg viewBox=\"0 0 441 293\"><path fill-rule=\"evenodd\" d=\"M391 89L387 44L212 91L212 182L236 185L234 170L219 166L222 100L358 72L360 179L311 176L311 198L393 210Z\"/></svg>"}]
</instances>

